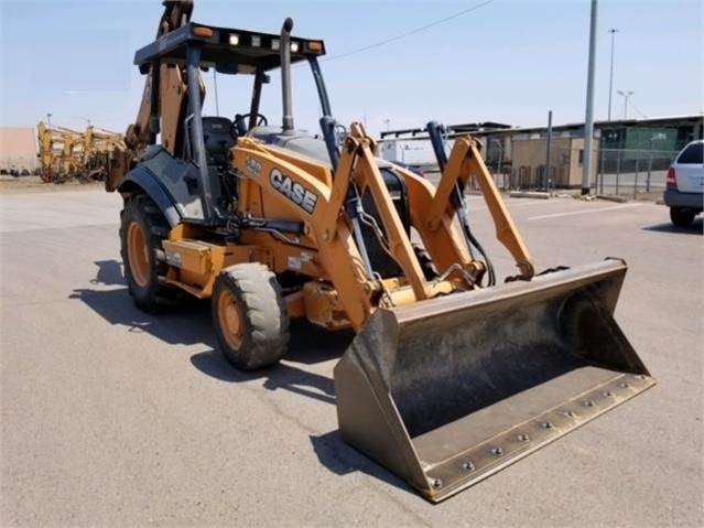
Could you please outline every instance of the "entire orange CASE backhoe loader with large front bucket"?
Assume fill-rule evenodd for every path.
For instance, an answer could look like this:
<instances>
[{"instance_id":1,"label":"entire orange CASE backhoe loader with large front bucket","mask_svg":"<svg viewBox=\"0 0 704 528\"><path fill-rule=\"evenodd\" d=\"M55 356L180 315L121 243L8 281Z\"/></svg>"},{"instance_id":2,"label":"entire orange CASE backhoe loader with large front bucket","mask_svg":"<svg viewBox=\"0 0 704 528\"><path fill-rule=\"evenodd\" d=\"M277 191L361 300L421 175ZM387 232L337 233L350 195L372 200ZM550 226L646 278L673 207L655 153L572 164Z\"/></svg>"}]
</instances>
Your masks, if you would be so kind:
<instances>
[{"instance_id":1,"label":"entire orange CASE backhoe loader with large front bucket","mask_svg":"<svg viewBox=\"0 0 704 528\"><path fill-rule=\"evenodd\" d=\"M435 186L377 158L365 128L340 140L318 58L323 41L191 21L165 1L127 149L108 191L124 201L120 240L137 305L209 299L225 358L277 364L289 322L356 331L334 369L344 439L444 499L654 385L613 313L618 259L537 270L470 137ZM322 138L294 127L291 66L307 63ZM205 116L201 72L251 76L249 108ZM282 120L260 100L281 72ZM465 214L475 179L516 263L500 283Z\"/></svg>"}]
</instances>

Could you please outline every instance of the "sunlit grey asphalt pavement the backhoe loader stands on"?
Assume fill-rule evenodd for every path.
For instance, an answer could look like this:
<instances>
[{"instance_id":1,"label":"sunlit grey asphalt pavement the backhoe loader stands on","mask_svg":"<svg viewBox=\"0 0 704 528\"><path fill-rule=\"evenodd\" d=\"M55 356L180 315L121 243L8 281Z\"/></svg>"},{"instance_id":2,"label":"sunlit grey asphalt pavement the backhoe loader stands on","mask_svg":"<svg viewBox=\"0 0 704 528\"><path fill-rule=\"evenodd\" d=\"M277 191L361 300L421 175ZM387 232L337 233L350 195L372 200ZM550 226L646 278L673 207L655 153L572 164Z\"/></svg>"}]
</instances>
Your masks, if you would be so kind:
<instances>
[{"instance_id":1,"label":"sunlit grey asphalt pavement the backhoe loader stands on","mask_svg":"<svg viewBox=\"0 0 704 528\"><path fill-rule=\"evenodd\" d=\"M207 303L134 308L118 195L0 195L0 525L702 526L702 218L507 204L541 268L626 259L616 320L659 385L432 505L337 431L333 367L350 333L296 324L281 365L235 371ZM498 252L480 198L469 211Z\"/></svg>"}]
</instances>

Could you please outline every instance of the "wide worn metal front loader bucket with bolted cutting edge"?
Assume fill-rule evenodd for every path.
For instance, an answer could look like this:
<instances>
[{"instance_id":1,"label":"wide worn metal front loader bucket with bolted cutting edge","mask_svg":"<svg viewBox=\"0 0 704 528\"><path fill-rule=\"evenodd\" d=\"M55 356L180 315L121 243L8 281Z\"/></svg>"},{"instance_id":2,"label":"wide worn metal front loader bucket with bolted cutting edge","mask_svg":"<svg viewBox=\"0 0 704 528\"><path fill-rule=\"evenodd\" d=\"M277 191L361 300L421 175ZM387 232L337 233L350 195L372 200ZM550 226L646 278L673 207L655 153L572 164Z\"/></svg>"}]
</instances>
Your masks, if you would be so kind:
<instances>
[{"instance_id":1,"label":"wide worn metal front loader bucket with bolted cutting edge","mask_svg":"<svg viewBox=\"0 0 704 528\"><path fill-rule=\"evenodd\" d=\"M347 442L442 500L652 387L607 260L378 310L335 367Z\"/></svg>"}]
</instances>

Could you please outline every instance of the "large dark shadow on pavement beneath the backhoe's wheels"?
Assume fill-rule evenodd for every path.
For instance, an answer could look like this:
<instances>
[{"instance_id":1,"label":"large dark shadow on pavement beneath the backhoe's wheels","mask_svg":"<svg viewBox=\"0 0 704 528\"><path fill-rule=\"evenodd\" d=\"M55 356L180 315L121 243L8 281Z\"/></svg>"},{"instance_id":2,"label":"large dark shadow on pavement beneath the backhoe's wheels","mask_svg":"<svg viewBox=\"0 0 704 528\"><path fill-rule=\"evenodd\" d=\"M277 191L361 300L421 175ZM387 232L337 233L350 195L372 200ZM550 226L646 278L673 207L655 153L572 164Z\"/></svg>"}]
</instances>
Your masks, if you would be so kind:
<instances>
[{"instance_id":1,"label":"large dark shadow on pavement beneath the backhoe's wheels","mask_svg":"<svg viewBox=\"0 0 704 528\"><path fill-rule=\"evenodd\" d=\"M110 325L122 326L127 332L145 332L172 345L205 345L208 349L193 355L191 364L201 373L220 381L240 382L266 378L263 386L269 390L284 389L335 403L335 386L331 377L297 368L295 365L315 365L339 358L354 338L354 332L328 332L304 321L294 321L291 323L289 354L283 363L243 373L231 367L217 352L209 302L193 300L164 313L145 313L134 306L119 261L101 260L95 263L98 271L89 281L90 284L122 288L76 289L68 297L84 302Z\"/></svg>"}]
</instances>

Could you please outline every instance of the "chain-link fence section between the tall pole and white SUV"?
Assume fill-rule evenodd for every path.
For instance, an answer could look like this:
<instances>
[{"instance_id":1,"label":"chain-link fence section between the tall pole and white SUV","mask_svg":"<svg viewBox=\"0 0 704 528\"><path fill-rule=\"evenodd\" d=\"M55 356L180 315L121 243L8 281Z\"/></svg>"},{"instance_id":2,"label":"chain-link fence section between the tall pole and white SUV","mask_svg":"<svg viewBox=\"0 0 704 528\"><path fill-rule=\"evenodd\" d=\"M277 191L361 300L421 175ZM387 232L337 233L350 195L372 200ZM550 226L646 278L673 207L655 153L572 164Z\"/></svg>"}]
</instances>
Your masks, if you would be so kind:
<instances>
[{"instance_id":1,"label":"chain-link fence section between the tall pole and white SUV","mask_svg":"<svg viewBox=\"0 0 704 528\"><path fill-rule=\"evenodd\" d=\"M678 151L604 149L595 190L598 194L638 200L661 195Z\"/></svg>"}]
</instances>

